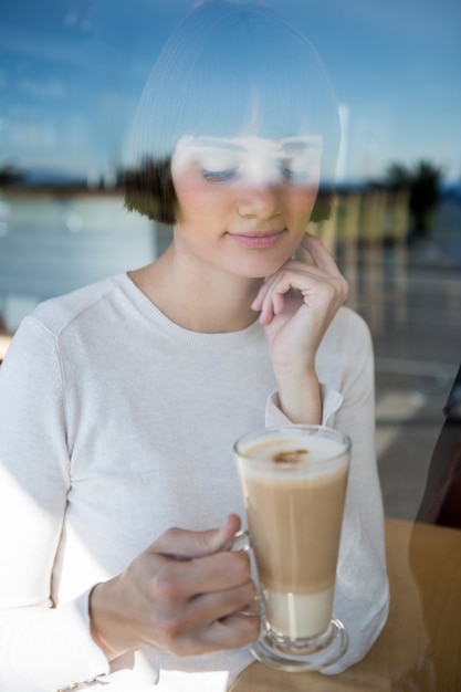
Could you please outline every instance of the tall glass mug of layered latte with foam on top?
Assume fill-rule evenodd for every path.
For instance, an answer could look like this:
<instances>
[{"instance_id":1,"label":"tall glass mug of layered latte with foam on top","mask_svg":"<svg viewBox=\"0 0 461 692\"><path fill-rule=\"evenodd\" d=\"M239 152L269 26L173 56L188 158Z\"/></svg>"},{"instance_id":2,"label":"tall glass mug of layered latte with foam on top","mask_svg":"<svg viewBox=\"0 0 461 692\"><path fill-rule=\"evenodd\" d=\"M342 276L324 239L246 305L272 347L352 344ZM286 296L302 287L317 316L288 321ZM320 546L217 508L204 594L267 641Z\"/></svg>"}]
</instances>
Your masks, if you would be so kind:
<instances>
[{"instance_id":1,"label":"tall glass mug of layered latte with foam on top","mask_svg":"<svg viewBox=\"0 0 461 692\"><path fill-rule=\"evenodd\" d=\"M348 644L332 611L350 440L322 426L264 428L234 452L264 609L253 654L287 671L324 668Z\"/></svg>"}]
</instances>

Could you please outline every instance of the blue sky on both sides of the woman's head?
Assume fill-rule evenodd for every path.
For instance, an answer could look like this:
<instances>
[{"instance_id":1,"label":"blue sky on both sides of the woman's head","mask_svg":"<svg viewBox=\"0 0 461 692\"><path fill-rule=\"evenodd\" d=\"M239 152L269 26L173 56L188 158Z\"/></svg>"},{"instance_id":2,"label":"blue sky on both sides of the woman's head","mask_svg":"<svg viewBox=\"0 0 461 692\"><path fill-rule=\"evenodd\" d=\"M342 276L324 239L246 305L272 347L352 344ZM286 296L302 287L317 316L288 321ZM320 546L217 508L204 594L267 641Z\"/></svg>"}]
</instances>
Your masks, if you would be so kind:
<instances>
[{"instance_id":1,"label":"blue sky on both sides of the woman's head","mask_svg":"<svg viewBox=\"0 0 461 692\"><path fill-rule=\"evenodd\" d=\"M273 0L322 55L343 105L340 177L427 158L461 178L458 0ZM150 66L192 0L0 7L0 166L117 168Z\"/></svg>"}]
</instances>

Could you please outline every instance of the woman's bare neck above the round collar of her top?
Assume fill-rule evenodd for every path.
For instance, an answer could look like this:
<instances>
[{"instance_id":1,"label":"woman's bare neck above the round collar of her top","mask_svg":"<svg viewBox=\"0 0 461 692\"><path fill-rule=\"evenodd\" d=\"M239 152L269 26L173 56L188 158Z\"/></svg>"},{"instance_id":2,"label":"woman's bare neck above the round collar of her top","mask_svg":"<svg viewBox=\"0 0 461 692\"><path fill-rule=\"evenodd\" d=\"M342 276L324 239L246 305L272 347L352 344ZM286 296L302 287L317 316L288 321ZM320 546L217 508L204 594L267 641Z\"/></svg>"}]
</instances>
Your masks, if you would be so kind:
<instances>
[{"instance_id":1,"label":"woman's bare neck above the round collar of her top","mask_svg":"<svg viewBox=\"0 0 461 692\"><path fill-rule=\"evenodd\" d=\"M251 303L263 280L196 266L172 245L129 276L169 319L192 332L239 332L258 317Z\"/></svg>"}]
</instances>

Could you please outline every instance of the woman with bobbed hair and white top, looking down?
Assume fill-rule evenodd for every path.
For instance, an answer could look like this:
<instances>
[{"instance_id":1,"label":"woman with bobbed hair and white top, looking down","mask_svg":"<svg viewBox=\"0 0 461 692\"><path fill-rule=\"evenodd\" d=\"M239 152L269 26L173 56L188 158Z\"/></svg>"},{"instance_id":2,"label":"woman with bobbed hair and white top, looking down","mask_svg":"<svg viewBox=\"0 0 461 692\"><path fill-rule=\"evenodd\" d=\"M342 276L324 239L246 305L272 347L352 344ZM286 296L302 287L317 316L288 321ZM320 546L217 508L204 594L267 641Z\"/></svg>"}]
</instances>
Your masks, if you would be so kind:
<instances>
[{"instance_id":1,"label":"woman with bobbed hair and white top, looking down","mask_svg":"<svg viewBox=\"0 0 461 692\"><path fill-rule=\"evenodd\" d=\"M334 608L350 644L325 669L340 672L379 635L388 588L369 334L305 232L331 206L327 77L266 8L206 3L134 133L126 203L171 223L170 247L39 306L1 367L0 680L227 689L259 632L248 558L226 549L243 516L232 445L280 422L354 443Z\"/></svg>"}]
</instances>

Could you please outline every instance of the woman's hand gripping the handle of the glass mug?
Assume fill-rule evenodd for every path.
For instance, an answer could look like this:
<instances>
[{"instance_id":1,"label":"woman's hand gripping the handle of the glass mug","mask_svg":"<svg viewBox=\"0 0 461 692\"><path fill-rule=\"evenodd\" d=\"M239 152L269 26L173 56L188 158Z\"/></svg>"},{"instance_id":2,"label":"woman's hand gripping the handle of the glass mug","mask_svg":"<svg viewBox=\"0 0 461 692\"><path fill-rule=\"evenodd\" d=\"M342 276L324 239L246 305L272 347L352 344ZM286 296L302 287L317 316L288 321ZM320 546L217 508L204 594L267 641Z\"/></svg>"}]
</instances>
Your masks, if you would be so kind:
<instances>
[{"instance_id":1,"label":"woman's hand gripping the handle of the glass mug","mask_svg":"<svg viewBox=\"0 0 461 692\"><path fill-rule=\"evenodd\" d=\"M90 597L92 636L107 659L143 648L196 656L243 647L260 622L242 615L256 595L245 552L230 552L240 518L220 528L170 528Z\"/></svg>"}]
</instances>

